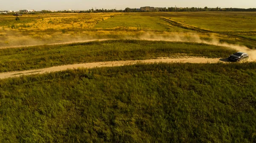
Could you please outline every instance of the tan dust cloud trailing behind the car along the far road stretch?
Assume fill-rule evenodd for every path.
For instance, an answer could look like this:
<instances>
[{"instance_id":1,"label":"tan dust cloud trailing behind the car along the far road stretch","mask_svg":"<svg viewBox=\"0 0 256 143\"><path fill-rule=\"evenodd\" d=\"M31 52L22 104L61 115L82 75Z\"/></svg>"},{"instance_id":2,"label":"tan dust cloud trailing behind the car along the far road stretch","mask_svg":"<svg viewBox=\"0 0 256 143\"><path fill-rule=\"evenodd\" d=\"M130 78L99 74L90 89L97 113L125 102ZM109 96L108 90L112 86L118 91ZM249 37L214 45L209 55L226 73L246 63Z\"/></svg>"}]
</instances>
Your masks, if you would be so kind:
<instances>
[{"instance_id":1,"label":"tan dust cloud trailing behind the car along the far road stretch","mask_svg":"<svg viewBox=\"0 0 256 143\"><path fill-rule=\"evenodd\" d=\"M5 38L0 41L0 49L1 48L18 48L23 46L35 46L35 45L57 45L57 44L69 44L69 43L79 43L79 42L90 42L90 41L103 41L113 38L96 38L92 36L72 36L70 34L59 34L55 36L51 35L44 35L49 37L44 37L44 39L47 40L40 40L32 38L31 36L24 36L21 34L18 34L17 32L12 31L5 31L6 35ZM122 39L144 39L144 40L162 40L162 41L171 41L171 42L197 42L197 43L204 43L209 45L217 45L217 46L223 46L227 48L232 48L237 51L245 52L249 54L249 60L256 60L256 50L249 49L245 46L241 45L233 45L225 42L220 42L218 40L218 36L212 34L206 36L208 39L211 40L202 40L198 34L195 33L163 33L163 34L155 34L146 32L143 34L133 35L133 36L123 36ZM5 43L8 41L9 43ZM231 54L231 53L230 53Z\"/></svg>"}]
</instances>

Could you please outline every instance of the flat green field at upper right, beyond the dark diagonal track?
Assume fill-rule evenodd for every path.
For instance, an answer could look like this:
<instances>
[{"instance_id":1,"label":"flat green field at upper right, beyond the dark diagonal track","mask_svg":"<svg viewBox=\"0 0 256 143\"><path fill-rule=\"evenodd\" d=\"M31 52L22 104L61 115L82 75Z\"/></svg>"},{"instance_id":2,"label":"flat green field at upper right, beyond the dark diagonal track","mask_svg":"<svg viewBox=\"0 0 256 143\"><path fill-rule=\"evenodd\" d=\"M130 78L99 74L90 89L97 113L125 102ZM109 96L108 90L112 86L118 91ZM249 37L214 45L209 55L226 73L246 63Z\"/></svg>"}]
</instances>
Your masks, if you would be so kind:
<instances>
[{"instance_id":1,"label":"flat green field at upper right, beyond the dark diagonal track","mask_svg":"<svg viewBox=\"0 0 256 143\"><path fill-rule=\"evenodd\" d=\"M256 12L158 12L155 15L211 31L255 31Z\"/></svg>"}]
</instances>

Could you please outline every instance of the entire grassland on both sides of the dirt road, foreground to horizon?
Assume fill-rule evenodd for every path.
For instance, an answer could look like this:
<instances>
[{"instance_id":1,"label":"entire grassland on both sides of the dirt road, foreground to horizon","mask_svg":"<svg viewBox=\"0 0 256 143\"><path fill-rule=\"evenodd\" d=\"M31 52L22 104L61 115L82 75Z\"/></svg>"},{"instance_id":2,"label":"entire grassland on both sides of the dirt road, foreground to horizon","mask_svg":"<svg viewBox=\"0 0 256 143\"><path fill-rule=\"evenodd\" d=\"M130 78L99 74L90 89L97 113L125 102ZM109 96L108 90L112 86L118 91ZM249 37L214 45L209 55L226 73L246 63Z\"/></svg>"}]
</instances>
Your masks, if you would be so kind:
<instances>
[{"instance_id":1,"label":"entire grassland on both sides of the dirt road, foreground to horizon","mask_svg":"<svg viewBox=\"0 0 256 143\"><path fill-rule=\"evenodd\" d=\"M0 72L226 58L236 50L216 44L256 48L255 16L143 12L25 14L15 20L0 14ZM15 45L37 46L4 48ZM134 64L0 79L0 142L256 143L255 89L256 62Z\"/></svg>"}]
</instances>

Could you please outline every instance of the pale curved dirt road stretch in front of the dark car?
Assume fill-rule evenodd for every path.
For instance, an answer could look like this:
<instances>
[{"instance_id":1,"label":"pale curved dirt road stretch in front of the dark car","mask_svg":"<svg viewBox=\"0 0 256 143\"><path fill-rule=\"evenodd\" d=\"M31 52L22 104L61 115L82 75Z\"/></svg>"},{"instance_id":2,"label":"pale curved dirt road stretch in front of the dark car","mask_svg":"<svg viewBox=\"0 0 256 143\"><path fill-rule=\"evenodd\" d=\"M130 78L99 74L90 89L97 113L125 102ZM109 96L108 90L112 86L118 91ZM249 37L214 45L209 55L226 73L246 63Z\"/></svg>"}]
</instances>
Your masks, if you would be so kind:
<instances>
[{"instance_id":1,"label":"pale curved dirt road stretch in front of the dark car","mask_svg":"<svg viewBox=\"0 0 256 143\"><path fill-rule=\"evenodd\" d=\"M0 73L0 79L5 79L9 77L17 77L20 75L31 75L31 74L42 74L49 72L56 72L61 70L73 69L73 68L93 68L93 67L114 67L114 66L123 66L127 64L136 64L138 62L142 63L154 63L154 62L181 62L181 63L216 63L216 62L226 62L225 59L219 58L203 58L203 57L187 57L182 59L171 59L167 57L160 57L157 59L147 59L147 60L134 60L134 61L110 61L110 62L93 62L93 63L84 63L84 64L68 64L57 67L47 67L36 70L25 70L25 71L14 71Z\"/></svg>"}]
</instances>

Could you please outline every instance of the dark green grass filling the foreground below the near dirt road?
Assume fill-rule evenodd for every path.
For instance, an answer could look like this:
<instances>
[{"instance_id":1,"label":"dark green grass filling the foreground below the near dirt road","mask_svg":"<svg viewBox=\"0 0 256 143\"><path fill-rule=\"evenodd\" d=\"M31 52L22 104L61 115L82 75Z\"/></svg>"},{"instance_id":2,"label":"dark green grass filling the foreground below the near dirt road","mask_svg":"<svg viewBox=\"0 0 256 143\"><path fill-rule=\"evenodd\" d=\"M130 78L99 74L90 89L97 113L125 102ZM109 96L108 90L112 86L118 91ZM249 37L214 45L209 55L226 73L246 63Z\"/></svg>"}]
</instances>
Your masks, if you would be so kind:
<instances>
[{"instance_id":1,"label":"dark green grass filling the foreground below the near dirt road","mask_svg":"<svg viewBox=\"0 0 256 143\"><path fill-rule=\"evenodd\" d=\"M0 80L0 142L254 143L256 63L136 64Z\"/></svg>"}]
</instances>

